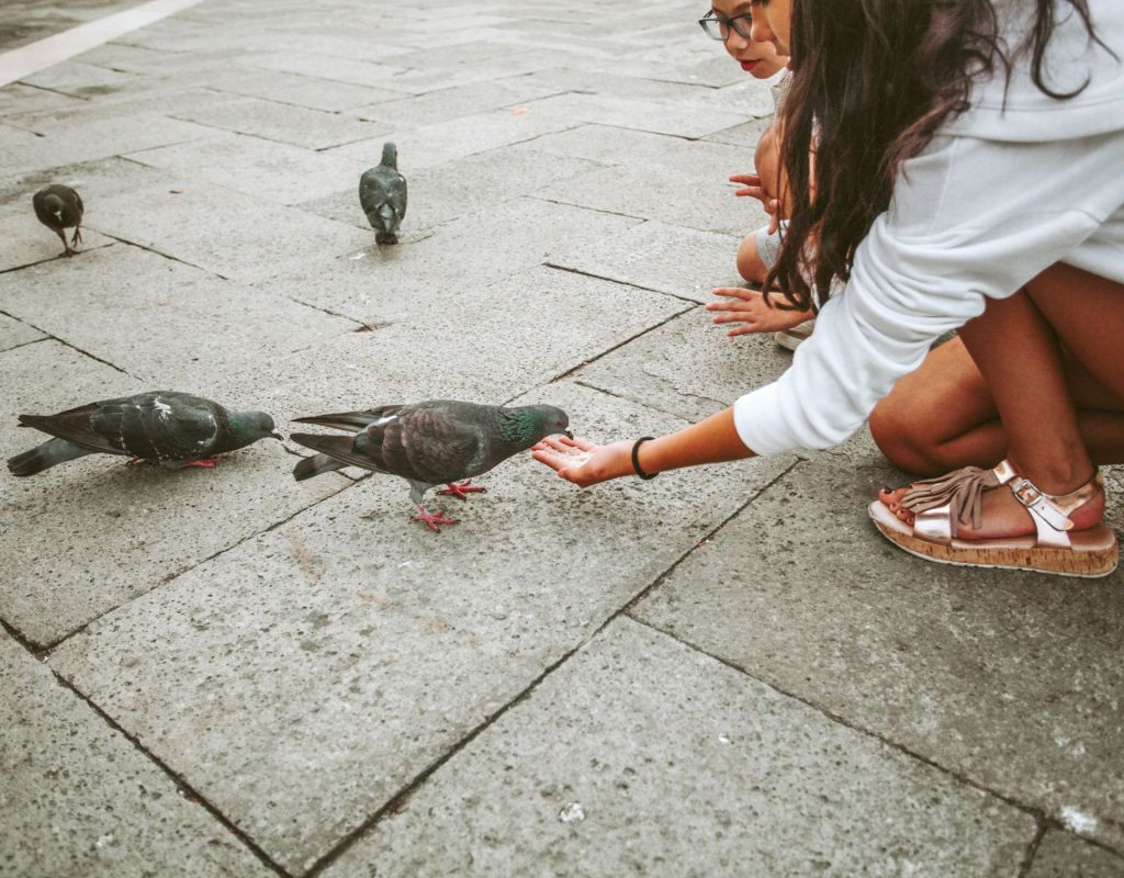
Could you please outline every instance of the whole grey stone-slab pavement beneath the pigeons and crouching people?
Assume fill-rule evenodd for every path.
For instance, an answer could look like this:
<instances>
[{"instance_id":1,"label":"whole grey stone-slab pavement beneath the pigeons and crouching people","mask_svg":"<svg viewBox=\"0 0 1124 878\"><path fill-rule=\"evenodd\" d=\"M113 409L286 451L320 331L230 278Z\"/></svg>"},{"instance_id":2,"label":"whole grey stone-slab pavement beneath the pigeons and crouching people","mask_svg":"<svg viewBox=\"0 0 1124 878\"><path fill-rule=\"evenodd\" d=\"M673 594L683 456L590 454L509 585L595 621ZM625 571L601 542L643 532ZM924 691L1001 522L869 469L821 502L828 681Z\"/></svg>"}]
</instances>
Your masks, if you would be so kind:
<instances>
[{"instance_id":1,"label":"whole grey stone-slab pavement beneath the pigeons and crouching people","mask_svg":"<svg viewBox=\"0 0 1124 878\"><path fill-rule=\"evenodd\" d=\"M703 11L205 0L0 90L3 456L142 389L613 440L772 379L701 307L771 110ZM1124 574L912 560L869 436L587 492L520 455L439 536L294 453L0 478L0 874L1124 875Z\"/></svg>"}]
</instances>

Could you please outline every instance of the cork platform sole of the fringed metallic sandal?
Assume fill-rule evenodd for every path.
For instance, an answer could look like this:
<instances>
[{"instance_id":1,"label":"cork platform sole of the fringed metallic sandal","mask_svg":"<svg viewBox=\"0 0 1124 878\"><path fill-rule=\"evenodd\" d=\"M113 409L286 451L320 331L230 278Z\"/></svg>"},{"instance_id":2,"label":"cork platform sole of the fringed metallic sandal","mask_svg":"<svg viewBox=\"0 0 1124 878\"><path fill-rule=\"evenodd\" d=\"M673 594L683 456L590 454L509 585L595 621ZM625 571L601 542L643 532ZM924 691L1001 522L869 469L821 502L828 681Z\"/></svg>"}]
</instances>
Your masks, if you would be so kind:
<instances>
[{"instance_id":1,"label":"cork platform sole of the fringed metallic sandal","mask_svg":"<svg viewBox=\"0 0 1124 878\"><path fill-rule=\"evenodd\" d=\"M1091 579L1112 573L1120 556L1116 534L1104 524L1086 531L1071 531L1069 549L1036 545L1033 535L1008 540L953 540L945 544L915 536L913 527L894 515L881 500L874 500L869 512L874 526L891 543L909 554L942 564L1030 570Z\"/></svg>"}]
</instances>

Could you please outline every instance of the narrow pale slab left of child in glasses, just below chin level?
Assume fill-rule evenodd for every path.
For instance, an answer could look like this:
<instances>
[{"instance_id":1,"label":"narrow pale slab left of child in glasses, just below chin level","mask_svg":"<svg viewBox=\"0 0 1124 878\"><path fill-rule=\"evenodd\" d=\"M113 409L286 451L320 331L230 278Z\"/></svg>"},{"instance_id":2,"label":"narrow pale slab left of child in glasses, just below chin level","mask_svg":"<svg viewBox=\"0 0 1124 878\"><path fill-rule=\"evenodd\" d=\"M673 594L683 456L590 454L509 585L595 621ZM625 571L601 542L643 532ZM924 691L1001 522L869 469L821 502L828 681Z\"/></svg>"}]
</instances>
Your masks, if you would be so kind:
<instances>
[{"instance_id":1,"label":"narrow pale slab left of child in glasses, just below chin level","mask_svg":"<svg viewBox=\"0 0 1124 878\"><path fill-rule=\"evenodd\" d=\"M636 130L670 134L677 137L703 137L733 125L741 125L746 121L749 116L749 114L734 114L729 110L711 110L629 98L574 93L542 98L533 101L529 107L531 111L541 112L547 117L635 128Z\"/></svg>"}]
</instances>

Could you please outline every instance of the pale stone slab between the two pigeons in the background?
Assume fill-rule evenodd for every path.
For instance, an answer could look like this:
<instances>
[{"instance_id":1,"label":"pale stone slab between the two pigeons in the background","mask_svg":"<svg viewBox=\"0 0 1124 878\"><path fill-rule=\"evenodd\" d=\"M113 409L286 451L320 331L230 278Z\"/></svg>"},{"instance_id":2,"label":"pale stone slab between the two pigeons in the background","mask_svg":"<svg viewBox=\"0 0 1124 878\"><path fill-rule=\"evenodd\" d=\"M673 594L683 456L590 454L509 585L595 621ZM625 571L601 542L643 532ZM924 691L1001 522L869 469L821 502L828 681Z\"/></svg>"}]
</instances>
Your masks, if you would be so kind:
<instances>
[{"instance_id":1,"label":"pale stone slab between the two pigeons in the background","mask_svg":"<svg viewBox=\"0 0 1124 878\"><path fill-rule=\"evenodd\" d=\"M137 210L137 205L145 209ZM266 209L252 196L178 178L101 201L94 226L189 265L247 282L299 271L326 254L346 253L370 239L352 226L277 205Z\"/></svg>"}]
</instances>

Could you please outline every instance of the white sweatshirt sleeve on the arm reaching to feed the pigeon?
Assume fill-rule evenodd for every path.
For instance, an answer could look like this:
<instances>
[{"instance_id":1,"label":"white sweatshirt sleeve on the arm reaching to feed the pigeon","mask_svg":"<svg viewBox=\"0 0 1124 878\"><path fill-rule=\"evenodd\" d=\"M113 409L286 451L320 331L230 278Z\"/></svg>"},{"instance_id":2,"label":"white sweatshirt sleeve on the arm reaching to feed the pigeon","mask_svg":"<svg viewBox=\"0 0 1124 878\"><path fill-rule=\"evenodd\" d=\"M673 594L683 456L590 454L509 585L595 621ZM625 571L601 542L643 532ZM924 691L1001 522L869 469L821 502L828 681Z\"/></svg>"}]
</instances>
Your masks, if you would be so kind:
<instances>
[{"instance_id":1,"label":"white sweatshirt sleeve on the arm reaching to feed the pigeon","mask_svg":"<svg viewBox=\"0 0 1124 878\"><path fill-rule=\"evenodd\" d=\"M842 442L937 336L1067 254L1099 253L1103 264L1072 261L1124 281L1122 205L1124 132L1027 144L934 139L905 163L890 209L792 366L734 404L742 442L758 454Z\"/></svg>"}]
</instances>

